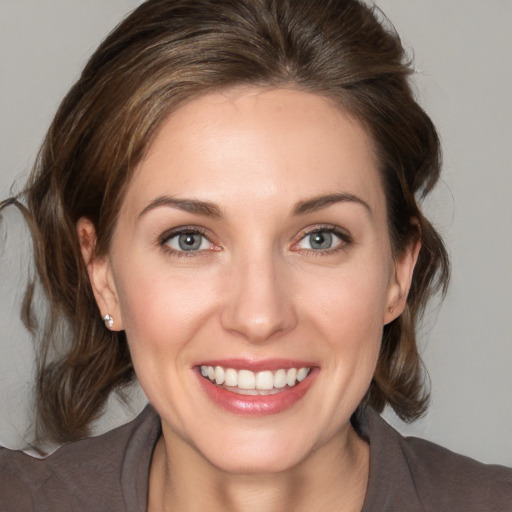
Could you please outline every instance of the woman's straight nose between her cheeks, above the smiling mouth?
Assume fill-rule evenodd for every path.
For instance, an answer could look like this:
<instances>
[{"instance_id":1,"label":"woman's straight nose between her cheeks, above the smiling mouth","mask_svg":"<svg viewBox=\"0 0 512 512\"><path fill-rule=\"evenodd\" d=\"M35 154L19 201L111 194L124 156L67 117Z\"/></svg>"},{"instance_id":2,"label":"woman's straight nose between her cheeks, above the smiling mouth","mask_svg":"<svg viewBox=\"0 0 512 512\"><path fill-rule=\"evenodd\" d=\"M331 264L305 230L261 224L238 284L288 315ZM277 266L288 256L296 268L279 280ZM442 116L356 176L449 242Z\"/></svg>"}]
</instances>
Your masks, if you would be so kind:
<instances>
[{"instance_id":1,"label":"woman's straight nose between her cheeks, above the smiling mouth","mask_svg":"<svg viewBox=\"0 0 512 512\"><path fill-rule=\"evenodd\" d=\"M292 330L297 315L283 265L272 256L240 256L233 267L229 300L221 312L223 328L251 343L265 343Z\"/></svg>"}]
</instances>

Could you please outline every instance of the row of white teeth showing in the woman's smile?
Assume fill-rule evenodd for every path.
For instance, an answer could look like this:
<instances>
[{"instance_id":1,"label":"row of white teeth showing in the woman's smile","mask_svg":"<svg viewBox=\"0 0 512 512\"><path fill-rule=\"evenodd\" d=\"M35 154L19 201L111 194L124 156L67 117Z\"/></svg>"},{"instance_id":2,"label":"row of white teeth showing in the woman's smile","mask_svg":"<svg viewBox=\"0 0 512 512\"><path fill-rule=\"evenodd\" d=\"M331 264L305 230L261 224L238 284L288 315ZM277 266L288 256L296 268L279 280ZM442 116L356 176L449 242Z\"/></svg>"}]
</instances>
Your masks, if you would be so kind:
<instances>
[{"instance_id":1,"label":"row of white teeth showing in the woman's smile","mask_svg":"<svg viewBox=\"0 0 512 512\"><path fill-rule=\"evenodd\" d=\"M251 372L250 370L234 370L222 366L201 366L201 375L217 386L238 387L242 394L254 394L255 390L272 391L293 387L302 382L311 371L311 368L281 368L275 372L265 370Z\"/></svg>"}]
</instances>

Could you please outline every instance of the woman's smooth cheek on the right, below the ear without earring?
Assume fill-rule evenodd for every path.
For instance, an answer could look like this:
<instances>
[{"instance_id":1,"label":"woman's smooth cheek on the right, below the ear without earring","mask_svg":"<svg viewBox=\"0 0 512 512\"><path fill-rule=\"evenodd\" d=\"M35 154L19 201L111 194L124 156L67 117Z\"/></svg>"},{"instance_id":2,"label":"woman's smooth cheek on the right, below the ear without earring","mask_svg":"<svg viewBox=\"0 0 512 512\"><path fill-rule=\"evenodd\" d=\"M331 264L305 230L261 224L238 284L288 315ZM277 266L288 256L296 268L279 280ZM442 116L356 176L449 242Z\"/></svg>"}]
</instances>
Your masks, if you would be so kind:
<instances>
[{"instance_id":1,"label":"woman's smooth cheek on the right, below the ear without earring","mask_svg":"<svg viewBox=\"0 0 512 512\"><path fill-rule=\"evenodd\" d=\"M309 283L303 317L320 335L321 350L342 396L357 406L373 377L380 353L388 274L378 261L353 265ZM320 286L322 284L322 286ZM326 393L332 393L326 389Z\"/></svg>"}]
</instances>

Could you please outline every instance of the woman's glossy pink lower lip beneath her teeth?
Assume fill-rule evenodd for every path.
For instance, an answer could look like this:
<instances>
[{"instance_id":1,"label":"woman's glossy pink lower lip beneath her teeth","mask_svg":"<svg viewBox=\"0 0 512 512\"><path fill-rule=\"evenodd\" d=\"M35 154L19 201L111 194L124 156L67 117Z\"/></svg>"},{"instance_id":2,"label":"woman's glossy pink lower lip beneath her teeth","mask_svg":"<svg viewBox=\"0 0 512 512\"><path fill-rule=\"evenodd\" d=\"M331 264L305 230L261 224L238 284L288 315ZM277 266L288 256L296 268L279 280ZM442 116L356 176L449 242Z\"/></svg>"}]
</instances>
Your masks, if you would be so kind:
<instances>
[{"instance_id":1,"label":"woman's glossy pink lower lip beneath her teeth","mask_svg":"<svg viewBox=\"0 0 512 512\"><path fill-rule=\"evenodd\" d=\"M312 368L302 382L274 395L240 395L216 386L200 373L198 378L208 398L226 411L245 416L267 416L291 409L312 386L316 373Z\"/></svg>"}]
</instances>

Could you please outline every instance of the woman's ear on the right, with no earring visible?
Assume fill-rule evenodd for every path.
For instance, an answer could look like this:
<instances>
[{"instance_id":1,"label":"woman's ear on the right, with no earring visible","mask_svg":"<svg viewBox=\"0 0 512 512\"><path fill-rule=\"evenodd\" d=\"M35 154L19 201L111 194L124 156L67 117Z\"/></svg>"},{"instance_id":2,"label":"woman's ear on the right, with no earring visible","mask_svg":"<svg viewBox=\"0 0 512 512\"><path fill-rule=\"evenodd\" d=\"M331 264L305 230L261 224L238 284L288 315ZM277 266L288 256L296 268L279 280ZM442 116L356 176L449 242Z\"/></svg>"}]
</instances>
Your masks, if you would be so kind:
<instances>
[{"instance_id":1,"label":"woman's ear on the right, with no earring visible","mask_svg":"<svg viewBox=\"0 0 512 512\"><path fill-rule=\"evenodd\" d=\"M420 249L420 237L414 238L394 260L394 272L388 289L384 325L398 318L405 309L407 295L411 287L412 274Z\"/></svg>"}]
</instances>

